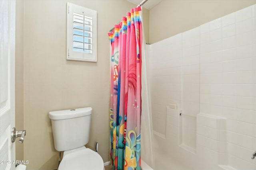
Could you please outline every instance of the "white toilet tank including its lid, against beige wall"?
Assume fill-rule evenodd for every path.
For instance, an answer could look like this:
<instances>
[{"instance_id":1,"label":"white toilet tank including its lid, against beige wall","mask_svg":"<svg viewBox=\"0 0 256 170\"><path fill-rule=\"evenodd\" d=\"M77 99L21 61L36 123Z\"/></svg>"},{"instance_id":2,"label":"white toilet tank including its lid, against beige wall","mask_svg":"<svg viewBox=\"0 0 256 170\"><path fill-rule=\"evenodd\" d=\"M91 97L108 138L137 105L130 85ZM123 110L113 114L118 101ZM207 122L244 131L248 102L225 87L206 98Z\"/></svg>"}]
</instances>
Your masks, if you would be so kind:
<instances>
[{"instance_id":1,"label":"white toilet tank including its lid, against beige wall","mask_svg":"<svg viewBox=\"0 0 256 170\"><path fill-rule=\"evenodd\" d=\"M89 142L92 107L50 111L54 147L58 151L75 149Z\"/></svg>"}]
</instances>

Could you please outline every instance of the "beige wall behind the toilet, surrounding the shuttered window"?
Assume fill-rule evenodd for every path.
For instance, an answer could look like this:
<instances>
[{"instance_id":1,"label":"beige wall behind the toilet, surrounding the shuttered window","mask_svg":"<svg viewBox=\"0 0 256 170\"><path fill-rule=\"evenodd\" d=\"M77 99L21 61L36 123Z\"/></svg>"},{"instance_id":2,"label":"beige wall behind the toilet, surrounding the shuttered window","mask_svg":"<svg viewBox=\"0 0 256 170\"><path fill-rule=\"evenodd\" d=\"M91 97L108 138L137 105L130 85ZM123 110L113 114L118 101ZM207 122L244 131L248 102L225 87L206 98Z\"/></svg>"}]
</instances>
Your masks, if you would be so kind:
<instances>
[{"instance_id":1,"label":"beige wall behind the toilet, surrounding the shuttered window","mask_svg":"<svg viewBox=\"0 0 256 170\"><path fill-rule=\"evenodd\" d=\"M98 12L97 63L66 61L66 2ZM29 160L28 170L57 168L48 112L60 109L93 108L87 147L94 148L98 141L98 153L109 161L107 33L134 6L124 0L17 1L16 127L26 129L27 135L23 144L17 144L16 159ZM147 42L148 17L149 11L144 10Z\"/></svg>"}]
</instances>

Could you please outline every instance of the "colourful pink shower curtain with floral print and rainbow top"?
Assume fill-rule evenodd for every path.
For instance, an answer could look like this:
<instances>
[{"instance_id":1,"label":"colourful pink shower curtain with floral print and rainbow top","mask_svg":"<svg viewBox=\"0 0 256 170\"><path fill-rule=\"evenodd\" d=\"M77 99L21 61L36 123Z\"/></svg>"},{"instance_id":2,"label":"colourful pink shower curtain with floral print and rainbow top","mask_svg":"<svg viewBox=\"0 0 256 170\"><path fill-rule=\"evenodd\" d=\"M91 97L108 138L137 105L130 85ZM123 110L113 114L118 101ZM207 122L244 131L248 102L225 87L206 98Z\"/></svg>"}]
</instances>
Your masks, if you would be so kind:
<instances>
[{"instance_id":1,"label":"colourful pink shower curtain with floral print and rainbow top","mask_svg":"<svg viewBox=\"0 0 256 170\"><path fill-rule=\"evenodd\" d=\"M111 41L110 136L113 170L141 170L141 8L108 33Z\"/></svg>"}]
</instances>

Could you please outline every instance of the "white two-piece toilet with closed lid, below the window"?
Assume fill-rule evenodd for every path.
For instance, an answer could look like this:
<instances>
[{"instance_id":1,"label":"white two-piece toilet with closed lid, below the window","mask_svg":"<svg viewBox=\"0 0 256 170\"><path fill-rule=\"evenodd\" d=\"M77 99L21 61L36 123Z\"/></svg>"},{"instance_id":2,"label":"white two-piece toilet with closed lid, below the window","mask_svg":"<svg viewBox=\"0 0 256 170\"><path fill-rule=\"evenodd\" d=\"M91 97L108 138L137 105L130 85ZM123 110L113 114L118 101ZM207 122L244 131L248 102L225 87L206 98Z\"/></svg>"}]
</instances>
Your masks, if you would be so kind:
<instances>
[{"instance_id":1,"label":"white two-piece toilet with closed lid, below the window","mask_svg":"<svg viewBox=\"0 0 256 170\"><path fill-rule=\"evenodd\" d=\"M89 141L92 107L50 111L54 147L64 151L58 170L104 170L101 156L84 147Z\"/></svg>"}]
</instances>

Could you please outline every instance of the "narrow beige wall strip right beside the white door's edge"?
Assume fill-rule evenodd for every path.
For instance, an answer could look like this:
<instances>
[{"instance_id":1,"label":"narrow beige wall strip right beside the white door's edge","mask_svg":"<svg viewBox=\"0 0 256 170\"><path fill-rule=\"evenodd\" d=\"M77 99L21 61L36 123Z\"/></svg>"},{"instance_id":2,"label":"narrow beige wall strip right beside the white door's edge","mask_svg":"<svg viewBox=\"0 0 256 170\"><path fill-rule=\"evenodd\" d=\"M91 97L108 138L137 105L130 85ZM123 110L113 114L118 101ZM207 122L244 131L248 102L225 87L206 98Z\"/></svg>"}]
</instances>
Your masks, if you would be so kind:
<instances>
[{"instance_id":1,"label":"narrow beige wall strip right beside the white door's edge","mask_svg":"<svg viewBox=\"0 0 256 170\"><path fill-rule=\"evenodd\" d=\"M15 127L24 130L24 95L23 95L23 27L24 27L24 2L16 1L16 47L15 47ZM25 139L26 141L26 139ZM16 160L24 160L24 144L16 141Z\"/></svg>"}]
</instances>

